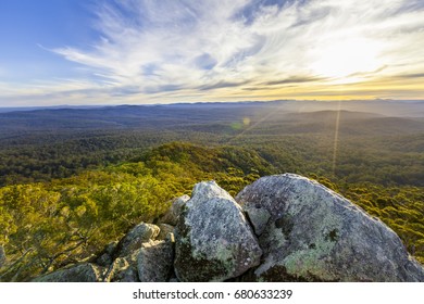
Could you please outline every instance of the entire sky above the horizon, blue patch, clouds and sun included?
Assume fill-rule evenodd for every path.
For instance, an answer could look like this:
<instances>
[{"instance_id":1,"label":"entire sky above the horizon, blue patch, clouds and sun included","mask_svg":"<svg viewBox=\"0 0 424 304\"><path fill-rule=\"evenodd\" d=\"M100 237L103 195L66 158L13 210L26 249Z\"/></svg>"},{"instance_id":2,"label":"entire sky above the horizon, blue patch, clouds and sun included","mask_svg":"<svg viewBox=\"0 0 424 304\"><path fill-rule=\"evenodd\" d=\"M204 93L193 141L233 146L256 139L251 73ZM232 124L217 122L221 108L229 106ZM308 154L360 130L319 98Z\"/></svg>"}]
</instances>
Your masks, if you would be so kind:
<instances>
[{"instance_id":1,"label":"entire sky above the horizon, blue patch, clouds and sun included","mask_svg":"<svg viewBox=\"0 0 424 304\"><path fill-rule=\"evenodd\" d=\"M424 99L422 0L0 0L0 106Z\"/></svg>"}]
</instances>

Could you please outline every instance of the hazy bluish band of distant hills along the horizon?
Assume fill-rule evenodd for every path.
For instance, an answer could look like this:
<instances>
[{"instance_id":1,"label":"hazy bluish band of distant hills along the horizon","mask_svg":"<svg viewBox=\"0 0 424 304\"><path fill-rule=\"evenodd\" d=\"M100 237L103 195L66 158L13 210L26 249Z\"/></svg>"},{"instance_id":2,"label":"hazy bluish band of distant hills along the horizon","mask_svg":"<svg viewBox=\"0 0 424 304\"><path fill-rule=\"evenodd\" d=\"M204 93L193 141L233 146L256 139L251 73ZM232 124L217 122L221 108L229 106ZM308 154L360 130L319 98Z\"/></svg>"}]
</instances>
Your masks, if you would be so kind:
<instances>
[{"instance_id":1,"label":"hazy bluish band of distant hills along the horizon","mask_svg":"<svg viewBox=\"0 0 424 304\"><path fill-rule=\"evenodd\" d=\"M217 132L250 124L257 129L314 132L334 128L363 134L424 131L424 101L273 101L161 105L58 106L0 113L0 135L43 130L176 130Z\"/></svg>"}]
</instances>

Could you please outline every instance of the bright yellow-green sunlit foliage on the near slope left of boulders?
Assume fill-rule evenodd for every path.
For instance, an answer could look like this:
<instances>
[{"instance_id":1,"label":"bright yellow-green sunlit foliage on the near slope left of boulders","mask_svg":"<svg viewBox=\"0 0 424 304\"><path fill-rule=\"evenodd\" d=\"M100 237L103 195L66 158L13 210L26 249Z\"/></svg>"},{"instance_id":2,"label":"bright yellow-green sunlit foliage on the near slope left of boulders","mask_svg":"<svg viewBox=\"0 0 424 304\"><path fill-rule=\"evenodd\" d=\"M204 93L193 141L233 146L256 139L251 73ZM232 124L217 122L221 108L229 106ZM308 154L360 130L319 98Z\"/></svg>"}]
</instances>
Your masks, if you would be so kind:
<instances>
[{"instance_id":1,"label":"bright yellow-green sunlit foliage on the near slope left of boulders","mask_svg":"<svg viewBox=\"0 0 424 304\"><path fill-rule=\"evenodd\" d=\"M236 152L241 156L237 162ZM9 257L18 261L3 270L2 280L27 280L89 258L135 224L153 221L173 198L190 193L199 180L216 179L235 194L265 170L254 152L235 148L170 143L142 159L50 182L1 188L1 242Z\"/></svg>"}]
</instances>

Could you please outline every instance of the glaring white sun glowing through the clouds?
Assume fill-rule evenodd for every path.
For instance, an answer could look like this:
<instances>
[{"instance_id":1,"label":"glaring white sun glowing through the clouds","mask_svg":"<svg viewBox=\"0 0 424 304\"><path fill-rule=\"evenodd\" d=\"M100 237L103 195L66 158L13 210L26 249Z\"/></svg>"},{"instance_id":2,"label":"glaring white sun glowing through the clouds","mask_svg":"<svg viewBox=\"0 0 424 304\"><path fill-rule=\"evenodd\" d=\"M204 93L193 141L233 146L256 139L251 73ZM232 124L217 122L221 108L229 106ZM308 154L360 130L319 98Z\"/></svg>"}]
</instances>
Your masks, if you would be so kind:
<instances>
[{"instance_id":1,"label":"glaring white sun glowing through the clouds","mask_svg":"<svg viewBox=\"0 0 424 304\"><path fill-rule=\"evenodd\" d=\"M315 75L336 81L358 79L379 66L379 47L364 38L345 38L323 43L314 54L311 68Z\"/></svg>"}]
</instances>

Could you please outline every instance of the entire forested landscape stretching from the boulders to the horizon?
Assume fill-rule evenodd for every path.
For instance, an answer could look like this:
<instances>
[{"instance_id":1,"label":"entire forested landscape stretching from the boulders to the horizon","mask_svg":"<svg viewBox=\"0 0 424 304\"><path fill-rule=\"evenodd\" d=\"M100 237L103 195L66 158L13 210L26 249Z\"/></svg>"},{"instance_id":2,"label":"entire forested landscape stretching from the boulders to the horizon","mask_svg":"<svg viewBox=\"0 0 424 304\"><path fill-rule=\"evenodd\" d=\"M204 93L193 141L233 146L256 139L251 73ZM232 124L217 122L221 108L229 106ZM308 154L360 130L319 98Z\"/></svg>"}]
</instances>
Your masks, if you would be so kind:
<instances>
[{"instance_id":1,"label":"entire forested landscape stretching from the boulders to the horizon","mask_svg":"<svg viewBox=\"0 0 424 304\"><path fill-rule=\"evenodd\" d=\"M286 172L314 178L381 218L424 263L420 102L1 113L0 160L3 281L89 259L136 223L154 221L200 180L236 194L260 176Z\"/></svg>"}]
</instances>

